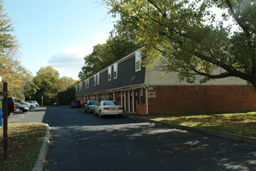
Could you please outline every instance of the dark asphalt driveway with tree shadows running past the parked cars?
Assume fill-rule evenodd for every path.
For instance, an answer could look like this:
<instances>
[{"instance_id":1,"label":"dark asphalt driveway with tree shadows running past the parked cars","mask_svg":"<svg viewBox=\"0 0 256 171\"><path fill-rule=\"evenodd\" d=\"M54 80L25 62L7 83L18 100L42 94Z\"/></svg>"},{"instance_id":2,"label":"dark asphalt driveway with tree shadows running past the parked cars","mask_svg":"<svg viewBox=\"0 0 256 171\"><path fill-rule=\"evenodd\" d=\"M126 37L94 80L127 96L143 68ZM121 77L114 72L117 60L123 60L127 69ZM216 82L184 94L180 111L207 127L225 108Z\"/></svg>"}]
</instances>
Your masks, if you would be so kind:
<instances>
[{"instance_id":1,"label":"dark asphalt driveway with tree shadows running past the parked cars","mask_svg":"<svg viewBox=\"0 0 256 171\"><path fill-rule=\"evenodd\" d=\"M40 107L9 122L51 127L45 170L256 170L256 145L81 108Z\"/></svg>"}]
</instances>

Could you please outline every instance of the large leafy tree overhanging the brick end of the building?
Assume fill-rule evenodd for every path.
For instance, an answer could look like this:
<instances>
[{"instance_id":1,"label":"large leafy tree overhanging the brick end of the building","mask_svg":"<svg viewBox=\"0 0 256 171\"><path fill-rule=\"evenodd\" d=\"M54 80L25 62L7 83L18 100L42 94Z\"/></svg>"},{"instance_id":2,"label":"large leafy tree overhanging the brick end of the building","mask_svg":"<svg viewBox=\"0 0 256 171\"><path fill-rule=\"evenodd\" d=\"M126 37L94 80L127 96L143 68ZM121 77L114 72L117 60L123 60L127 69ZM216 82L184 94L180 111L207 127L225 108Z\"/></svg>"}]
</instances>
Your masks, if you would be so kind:
<instances>
[{"instance_id":1,"label":"large leafy tree overhanging the brick end of the building","mask_svg":"<svg viewBox=\"0 0 256 171\"><path fill-rule=\"evenodd\" d=\"M112 16L119 15L117 32L134 32L145 45L144 65L164 56L163 71L178 72L180 80L234 76L256 88L256 0L105 2Z\"/></svg>"}]
</instances>

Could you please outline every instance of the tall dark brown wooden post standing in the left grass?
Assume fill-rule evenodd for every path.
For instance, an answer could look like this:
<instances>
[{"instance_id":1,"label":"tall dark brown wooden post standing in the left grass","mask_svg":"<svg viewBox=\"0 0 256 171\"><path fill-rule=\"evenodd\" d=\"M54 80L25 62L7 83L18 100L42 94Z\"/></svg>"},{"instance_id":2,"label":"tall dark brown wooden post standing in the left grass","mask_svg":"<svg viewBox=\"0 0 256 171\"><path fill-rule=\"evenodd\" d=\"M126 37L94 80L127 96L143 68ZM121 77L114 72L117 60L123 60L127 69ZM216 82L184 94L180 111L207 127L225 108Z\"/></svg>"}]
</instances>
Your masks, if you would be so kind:
<instances>
[{"instance_id":1,"label":"tall dark brown wooden post standing in the left grass","mask_svg":"<svg viewBox=\"0 0 256 171\"><path fill-rule=\"evenodd\" d=\"M2 115L3 115L3 137L4 137L4 159L8 155L8 83L4 82L3 92L5 97L2 99Z\"/></svg>"}]
</instances>

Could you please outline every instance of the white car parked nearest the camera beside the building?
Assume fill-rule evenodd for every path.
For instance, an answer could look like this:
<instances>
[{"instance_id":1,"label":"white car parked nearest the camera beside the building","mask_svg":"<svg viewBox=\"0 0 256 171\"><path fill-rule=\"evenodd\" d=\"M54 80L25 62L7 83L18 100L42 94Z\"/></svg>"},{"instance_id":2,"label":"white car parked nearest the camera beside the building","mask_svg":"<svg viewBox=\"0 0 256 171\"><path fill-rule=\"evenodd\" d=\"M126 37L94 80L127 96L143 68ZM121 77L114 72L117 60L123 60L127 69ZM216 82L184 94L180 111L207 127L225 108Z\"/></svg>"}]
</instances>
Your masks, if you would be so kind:
<instances>
[{"instance_id":1,"label":"white car parked nearest the camera beside the building","mask_svg":"<svg viewBox=\"0 0 256 171\"><path fill-rule=\"evenodd\" d=\"M94 115L123 115L123 107L120 106L116 101L101 101L98 106L95 107Z\"/></svg>"}]
</instances>

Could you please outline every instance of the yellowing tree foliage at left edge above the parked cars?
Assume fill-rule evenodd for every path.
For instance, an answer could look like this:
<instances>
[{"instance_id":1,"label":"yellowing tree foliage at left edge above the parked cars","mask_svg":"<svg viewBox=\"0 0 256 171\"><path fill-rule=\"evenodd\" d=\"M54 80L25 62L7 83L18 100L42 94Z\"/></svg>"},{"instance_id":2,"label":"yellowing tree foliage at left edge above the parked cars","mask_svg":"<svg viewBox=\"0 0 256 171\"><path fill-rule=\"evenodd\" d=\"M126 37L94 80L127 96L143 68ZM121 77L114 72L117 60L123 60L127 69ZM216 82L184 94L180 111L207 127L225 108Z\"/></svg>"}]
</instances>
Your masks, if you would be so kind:
<instances>
[{"instance_id":1,"label":"yellowing tree foliage at left edge above the parked cars","mask_svg":"<svg viewBox=\"0 0 256 171\"><path fill-rule=\"evenodd\" d=\"M8 82L8 96L24 99L25 82L32 76L20 65L19 46L16 38L12 36L12 30L11 20L0 5L0 76L2 82ZM0 82L0 91L2 82Z\"/></svg>"}]
</instances>

